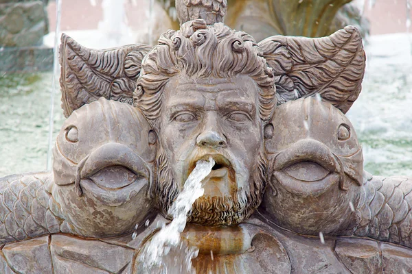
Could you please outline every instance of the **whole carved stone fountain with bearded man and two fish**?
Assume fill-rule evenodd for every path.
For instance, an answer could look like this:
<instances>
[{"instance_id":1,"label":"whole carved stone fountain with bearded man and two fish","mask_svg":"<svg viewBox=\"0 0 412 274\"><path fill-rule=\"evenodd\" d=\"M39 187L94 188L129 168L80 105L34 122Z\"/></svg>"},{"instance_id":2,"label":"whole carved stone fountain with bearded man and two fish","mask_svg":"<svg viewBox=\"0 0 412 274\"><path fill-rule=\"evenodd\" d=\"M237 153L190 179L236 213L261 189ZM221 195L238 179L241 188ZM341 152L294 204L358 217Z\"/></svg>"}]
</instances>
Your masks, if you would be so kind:
<instances>
[{"instance_id":1,"label":"whole carved stone fountain with bearded man and two fish","mask_svg":"<svg viewBox=\"0 0 412 274\"><path fill-rule=\"evenodd\" d=\"M222 23L226 0L176 8L155 47L62 36L67 120L51 172L0 179L1 273L412 273L411 179L364 171L345 116L356 28L257 43ZM207 161L179 244L147 268Z\"/></svg>"}]
</instances>

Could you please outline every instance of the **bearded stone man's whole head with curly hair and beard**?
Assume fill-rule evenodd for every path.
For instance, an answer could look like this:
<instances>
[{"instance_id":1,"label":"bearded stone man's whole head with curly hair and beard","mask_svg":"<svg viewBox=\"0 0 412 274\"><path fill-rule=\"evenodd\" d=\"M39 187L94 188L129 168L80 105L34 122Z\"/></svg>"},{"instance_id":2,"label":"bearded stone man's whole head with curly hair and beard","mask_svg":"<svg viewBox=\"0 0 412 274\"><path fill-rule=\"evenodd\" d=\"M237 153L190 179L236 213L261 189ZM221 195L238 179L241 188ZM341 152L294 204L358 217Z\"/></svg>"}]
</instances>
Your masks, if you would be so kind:
<instances>
[{"instance_id":1,"label":"bearded stone man's whole head with curly hair and beard","mask_svg":"<svg viewBox=\"0 0 412 274\"><path fill-rule=\"evenodd\" d=\"M273 69L253 37L201 19L166 32L141 63L134 101L159 136L151 193L161 214L168 216L196 162L212 157L188 221L249 218L266 187L263 132L277 101Z\"/></svg>"}]
</instances>

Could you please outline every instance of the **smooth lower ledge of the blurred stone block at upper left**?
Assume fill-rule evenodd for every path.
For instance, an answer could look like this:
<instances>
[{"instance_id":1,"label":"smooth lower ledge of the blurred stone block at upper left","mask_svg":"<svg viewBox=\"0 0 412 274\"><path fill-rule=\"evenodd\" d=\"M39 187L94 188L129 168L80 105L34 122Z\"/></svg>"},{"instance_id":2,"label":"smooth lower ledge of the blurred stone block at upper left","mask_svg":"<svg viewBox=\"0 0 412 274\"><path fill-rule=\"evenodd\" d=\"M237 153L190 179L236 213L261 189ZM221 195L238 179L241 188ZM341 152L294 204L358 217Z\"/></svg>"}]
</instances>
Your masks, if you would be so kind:
<instances>
[{"instance_id":1,"label":"smooth lower ledge of the blurred stone block at upper left","mask_svg":"<svg viewBox=\"0 0 412 274\"><path fill-rule=\"evenodd\" d=\"M0 48L1 72L52 71L53 49L49 47Z\"/></svg>"}]
</instances>

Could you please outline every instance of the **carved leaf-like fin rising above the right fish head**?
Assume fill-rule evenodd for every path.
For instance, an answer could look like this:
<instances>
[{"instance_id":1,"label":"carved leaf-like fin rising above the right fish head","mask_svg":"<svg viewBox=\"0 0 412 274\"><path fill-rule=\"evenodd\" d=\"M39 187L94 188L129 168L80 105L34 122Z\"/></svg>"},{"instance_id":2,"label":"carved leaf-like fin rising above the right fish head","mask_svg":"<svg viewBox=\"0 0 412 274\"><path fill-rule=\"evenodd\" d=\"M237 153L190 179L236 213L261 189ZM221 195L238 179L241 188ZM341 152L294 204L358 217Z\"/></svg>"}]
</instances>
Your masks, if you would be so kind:
<instances>
[{"instance_id":1,"label":"carved leaf-like fin rising above the right fish head","mask_svg":"<svg viewBox=\"0 0 412 274\"><path fill-rule=\"evenodd\" d=\"M323 38L272 36L259 45L275 71L278 104L319 94L346 113L361 92L366 57L355 27Z\"/></svg>"}]
</instances>

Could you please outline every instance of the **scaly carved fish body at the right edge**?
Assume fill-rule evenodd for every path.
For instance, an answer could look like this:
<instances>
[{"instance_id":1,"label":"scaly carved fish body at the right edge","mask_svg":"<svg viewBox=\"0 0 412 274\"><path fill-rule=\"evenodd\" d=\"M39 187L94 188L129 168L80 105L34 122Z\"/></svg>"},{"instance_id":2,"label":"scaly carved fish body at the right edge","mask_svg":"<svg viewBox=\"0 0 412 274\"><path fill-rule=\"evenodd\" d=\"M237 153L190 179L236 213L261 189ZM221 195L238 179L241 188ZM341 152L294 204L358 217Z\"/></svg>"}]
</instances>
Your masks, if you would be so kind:
<instances>
[{"instance_id":1,"label":"scaly carved fish body at the right edge","mask_svg":"<svg viewBox=\"0 0 412 274\"><path fill-rule=\"evenodd\" d=\"M365 173L355 236L412 247L412 179Z\"/></svg>"}]
</instances>

